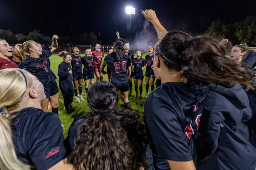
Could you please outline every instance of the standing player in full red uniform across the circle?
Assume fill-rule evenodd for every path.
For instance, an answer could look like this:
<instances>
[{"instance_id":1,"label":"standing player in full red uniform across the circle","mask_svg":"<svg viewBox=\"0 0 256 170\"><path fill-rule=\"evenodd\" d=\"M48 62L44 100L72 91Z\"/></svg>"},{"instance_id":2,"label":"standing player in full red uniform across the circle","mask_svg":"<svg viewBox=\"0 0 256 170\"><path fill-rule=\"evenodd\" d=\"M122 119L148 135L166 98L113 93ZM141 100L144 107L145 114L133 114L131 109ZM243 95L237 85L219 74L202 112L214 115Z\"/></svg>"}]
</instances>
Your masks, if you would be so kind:
<instances>
[{"instance_id":1,"label":"standing player in full red uniform across the circle","mask_svg":"<svg viewBox=\"0 0 256 170\"><path fill-rule=\"evenodd\" d=\"M102 64L104 54L102 51L100 51L99 44L96 44L95 50L92 52L92 55L94 57L94 72L95 72L97 81L103 81L103 73L100 72L100 66Z\"/></svg>"}]
</instances>

